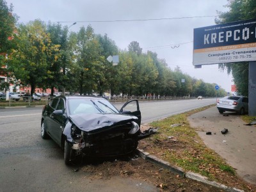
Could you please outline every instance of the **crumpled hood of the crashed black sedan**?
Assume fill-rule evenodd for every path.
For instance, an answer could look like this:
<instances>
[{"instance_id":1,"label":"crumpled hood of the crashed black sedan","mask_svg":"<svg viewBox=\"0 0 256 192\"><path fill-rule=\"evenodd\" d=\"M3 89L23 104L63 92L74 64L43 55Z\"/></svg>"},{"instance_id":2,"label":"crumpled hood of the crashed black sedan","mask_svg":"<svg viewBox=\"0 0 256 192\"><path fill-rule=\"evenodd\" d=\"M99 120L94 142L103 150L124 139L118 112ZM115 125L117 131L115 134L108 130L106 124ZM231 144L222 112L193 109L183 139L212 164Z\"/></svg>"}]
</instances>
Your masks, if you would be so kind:
<instances>
[{"instance_id":1,"label":"crumpled hood of the crashed black sedan","mask_svg":"<svg viewBox=\"0 0 256 192\"><path fill-rule=\"evenodd\" d=\"M125 114L76 114L68 117L82 131L95 133L102 128L111 128L137 120L138 117Z\"/></svg>"}]
</instances>

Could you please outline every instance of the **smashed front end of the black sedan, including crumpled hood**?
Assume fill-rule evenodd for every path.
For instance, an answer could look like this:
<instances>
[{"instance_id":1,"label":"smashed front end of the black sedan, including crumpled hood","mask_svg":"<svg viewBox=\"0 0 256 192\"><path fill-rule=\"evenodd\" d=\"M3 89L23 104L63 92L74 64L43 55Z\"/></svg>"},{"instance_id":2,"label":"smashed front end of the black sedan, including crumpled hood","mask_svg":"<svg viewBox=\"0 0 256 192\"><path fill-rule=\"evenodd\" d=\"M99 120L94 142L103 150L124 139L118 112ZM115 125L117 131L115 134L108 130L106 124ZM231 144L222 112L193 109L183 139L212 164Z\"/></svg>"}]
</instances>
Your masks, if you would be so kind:
<instances>
[{"instance_id":1,"label":"smashed front end of the black sedan, including crumpled hood","mask_svg":"<svg viewBox=\"0 0 256 192\"><path fill-rule=\"evenodd\" d=\"M70 115L63 134L73 156L119 156L138 146L137 117L122 114Z\"/></svg>"}]
</instances>

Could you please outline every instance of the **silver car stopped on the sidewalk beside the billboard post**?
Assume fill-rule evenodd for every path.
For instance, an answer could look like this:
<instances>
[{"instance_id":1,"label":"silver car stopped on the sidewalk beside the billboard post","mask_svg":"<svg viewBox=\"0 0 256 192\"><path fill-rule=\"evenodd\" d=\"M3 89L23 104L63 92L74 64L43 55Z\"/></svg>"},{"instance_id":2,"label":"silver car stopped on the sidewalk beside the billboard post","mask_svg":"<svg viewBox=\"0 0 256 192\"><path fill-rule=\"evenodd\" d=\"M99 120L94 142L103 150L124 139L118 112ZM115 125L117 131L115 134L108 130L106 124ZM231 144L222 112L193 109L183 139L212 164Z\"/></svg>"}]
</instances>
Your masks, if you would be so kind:
<instances>
[{"instance_id":1,"label":"silver car stopped on the sidewalk beside the billboard post","mask_svg":"<svg viewBox=\"0 0 256 192\"><path fill-rule=\"evenodd\" d=\"M217 101L220 114L223 112L237 112L241 115L248 113L248 98L244 96L227 96Z\"/></svg>"}]
</instances>

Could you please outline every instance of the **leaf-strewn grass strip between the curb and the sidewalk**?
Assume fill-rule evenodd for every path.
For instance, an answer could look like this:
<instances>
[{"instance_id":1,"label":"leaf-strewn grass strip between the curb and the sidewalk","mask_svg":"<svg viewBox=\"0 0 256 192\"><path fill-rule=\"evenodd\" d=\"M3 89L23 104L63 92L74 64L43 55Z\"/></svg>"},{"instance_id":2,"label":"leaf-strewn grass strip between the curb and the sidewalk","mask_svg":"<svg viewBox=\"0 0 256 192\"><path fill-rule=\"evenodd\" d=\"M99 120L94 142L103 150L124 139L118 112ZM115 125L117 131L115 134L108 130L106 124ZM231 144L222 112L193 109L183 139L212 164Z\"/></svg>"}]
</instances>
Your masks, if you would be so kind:
<instances>
[{"instance_id":1,"label":"leaf-strewn grass strip between the curb and the sidewalk","mask_svg":"<svg viewBox=\"0 0 256 192\"><path fill-rule=\"evenodd\" d=\"M185 171L196 172L209 177L209 179L218 180L220 173L235 175L234 168L227 165L225 160L216 152L205 146L195 129L189 126L187 120L189 115L209 107L212 107L212 105L152 122L150 126L160 129L156 135L152 135L147 140L156 144L166 142L168 137L177 138L180 149L170 150L164 149L164 147L157 148L157 145L154 145L155 149L153 148L151 152L154 154L161 152L161 158L183 168ZM180 124L180 126L173 128L172 124Z\"/></svg>"}]
</instances>

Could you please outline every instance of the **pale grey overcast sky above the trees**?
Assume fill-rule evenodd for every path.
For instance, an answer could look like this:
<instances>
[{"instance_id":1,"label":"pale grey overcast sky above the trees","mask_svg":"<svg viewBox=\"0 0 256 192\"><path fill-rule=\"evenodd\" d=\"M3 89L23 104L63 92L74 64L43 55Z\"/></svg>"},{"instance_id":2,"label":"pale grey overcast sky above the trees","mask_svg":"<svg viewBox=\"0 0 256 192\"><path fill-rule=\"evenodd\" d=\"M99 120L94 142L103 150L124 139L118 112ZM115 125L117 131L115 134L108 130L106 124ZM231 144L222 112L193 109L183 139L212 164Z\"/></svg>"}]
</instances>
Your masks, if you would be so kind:
<instances>
[{"instance_id":1,"label":"pale grey overcast sky above the trees","mask_svg":"<svg viewBox=\"0 0 256 192\"><path fill-rule=\"evenodd\" d=\"M218 64L195 69L193 29L215 25L216 11L228 11L227 0L5 0L13 4L19 22L39 18L71 26L93 27L96 34L108 34L124 50L138 41L143 52L156 52L174 70L176 66L204 82L216 83L230 92L232 75L218 70Z\"/></svg>"}]
</instances>

